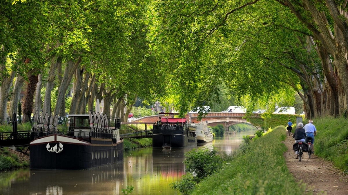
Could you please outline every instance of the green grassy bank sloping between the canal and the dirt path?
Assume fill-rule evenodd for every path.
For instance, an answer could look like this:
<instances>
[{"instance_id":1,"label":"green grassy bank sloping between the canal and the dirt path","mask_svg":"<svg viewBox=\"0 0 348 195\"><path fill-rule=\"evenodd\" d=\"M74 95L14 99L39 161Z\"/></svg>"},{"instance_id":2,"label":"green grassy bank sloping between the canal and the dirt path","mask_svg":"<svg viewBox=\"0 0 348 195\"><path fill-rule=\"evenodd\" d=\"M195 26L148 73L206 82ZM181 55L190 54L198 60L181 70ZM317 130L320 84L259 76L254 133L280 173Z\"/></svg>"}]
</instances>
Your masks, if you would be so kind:
<instances>
[{"instance_id":1,"label":"green grassy bank sloping between the canal and the dirt path","mask_svg":"<svg viewBox=\"0 0 348 195\"><path fill-rule=\"evenodd\" d=\"M285 138L280 127L250 142L192 194L305 194L304 184L296 183L287 169Z\"/></svg>"}]
</instances>

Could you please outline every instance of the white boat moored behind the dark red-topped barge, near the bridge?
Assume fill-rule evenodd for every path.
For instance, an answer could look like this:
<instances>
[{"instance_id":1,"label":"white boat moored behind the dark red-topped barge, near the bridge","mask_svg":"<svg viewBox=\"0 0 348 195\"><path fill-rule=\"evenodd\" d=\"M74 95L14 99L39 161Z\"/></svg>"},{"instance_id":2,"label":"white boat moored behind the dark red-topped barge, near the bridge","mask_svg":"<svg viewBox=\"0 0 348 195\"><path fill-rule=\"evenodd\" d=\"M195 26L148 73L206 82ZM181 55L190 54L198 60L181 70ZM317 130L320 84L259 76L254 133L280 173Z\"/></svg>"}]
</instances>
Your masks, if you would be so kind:
<instances>
[{"instance_id":1,"label":"white boat moored behind the dark red-topped barge, near the bridge","mask_svg":"<svg viewBox=\"0 0 348 195\"><path fill-rule=\"evenodd\" d=\"M187 127L190 130L196 130L197 143L207 143L213 141L213 129L208 127L207 123L189 123Z\"/></svg>"}]
</instances>

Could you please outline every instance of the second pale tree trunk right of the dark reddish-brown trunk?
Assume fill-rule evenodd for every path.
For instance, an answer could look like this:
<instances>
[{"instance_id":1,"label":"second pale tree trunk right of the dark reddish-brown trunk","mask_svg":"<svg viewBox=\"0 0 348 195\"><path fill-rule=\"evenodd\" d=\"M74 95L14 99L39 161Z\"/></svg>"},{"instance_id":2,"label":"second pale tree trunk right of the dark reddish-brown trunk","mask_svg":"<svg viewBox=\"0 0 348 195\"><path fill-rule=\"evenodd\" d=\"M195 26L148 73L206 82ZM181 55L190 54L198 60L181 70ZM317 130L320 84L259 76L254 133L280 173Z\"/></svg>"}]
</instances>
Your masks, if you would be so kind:
<instances>
[{"instance_id":1,"label":"second pale tree trunk right of the dark reddish-brown trunk","mask_svg":"<svg viewBox=\"0 0 348 195\"><path fill-rule=\"evenodd\" d=\"M51 93L54 88L54 80L56 79L55 71L59 64L62 63L62 58L57 57L55 62L52 60L51 66L48 70L47 83L46 83L46 92L44 100L44 108L42 109L43 113L51 113Z\"/></svg>"}]
</instances>

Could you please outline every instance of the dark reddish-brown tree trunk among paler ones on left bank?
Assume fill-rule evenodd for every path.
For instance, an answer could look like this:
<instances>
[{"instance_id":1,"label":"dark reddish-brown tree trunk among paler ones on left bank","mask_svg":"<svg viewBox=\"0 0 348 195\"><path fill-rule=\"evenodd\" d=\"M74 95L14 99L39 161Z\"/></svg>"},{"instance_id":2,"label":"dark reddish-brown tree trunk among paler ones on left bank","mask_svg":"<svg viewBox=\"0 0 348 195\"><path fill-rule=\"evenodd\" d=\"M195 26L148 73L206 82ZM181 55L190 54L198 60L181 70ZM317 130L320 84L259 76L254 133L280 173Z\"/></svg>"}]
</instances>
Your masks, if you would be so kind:
<instances>
[{"instance_id":1,"label":"dark reddish-brown tree trunk among paler ones on left bank","mask_svg":"<svg viewBox=\"0 0 348 195\"><path fill-rule=\"evenodd\" d=\"M22 122L30 122L31 114L33 111L33 99L35 94L36 84L38 83L38 75L32 75L29 78L29 83L27 85L26 95L25 95L25 103L23 108L23 119Z\"/></svg>"}]
</instances>

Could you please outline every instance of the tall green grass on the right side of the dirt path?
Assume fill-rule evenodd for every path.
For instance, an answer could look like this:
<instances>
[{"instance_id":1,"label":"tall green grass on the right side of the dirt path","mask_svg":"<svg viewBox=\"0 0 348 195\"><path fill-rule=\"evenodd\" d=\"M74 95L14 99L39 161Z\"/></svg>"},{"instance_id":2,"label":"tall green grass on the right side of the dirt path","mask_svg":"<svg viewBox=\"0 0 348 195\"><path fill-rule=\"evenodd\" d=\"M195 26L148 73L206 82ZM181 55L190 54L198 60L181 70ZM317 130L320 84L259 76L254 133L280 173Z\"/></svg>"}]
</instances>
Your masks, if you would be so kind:
<instances>
[{"instance_id":1,"label":"tall green grass on the right side of the dirt path","mask_svg":"<svg viewBox=\"0 0 348 195\"><path fill-rule=\"evenodd\" d=\"M332 117L313 120L317 129L313 144L315 154L348 173L348 120Z\"/></svg>"}]
</instances>

